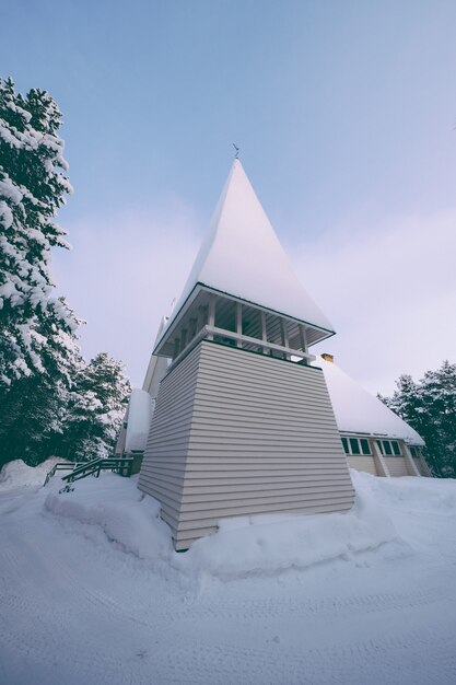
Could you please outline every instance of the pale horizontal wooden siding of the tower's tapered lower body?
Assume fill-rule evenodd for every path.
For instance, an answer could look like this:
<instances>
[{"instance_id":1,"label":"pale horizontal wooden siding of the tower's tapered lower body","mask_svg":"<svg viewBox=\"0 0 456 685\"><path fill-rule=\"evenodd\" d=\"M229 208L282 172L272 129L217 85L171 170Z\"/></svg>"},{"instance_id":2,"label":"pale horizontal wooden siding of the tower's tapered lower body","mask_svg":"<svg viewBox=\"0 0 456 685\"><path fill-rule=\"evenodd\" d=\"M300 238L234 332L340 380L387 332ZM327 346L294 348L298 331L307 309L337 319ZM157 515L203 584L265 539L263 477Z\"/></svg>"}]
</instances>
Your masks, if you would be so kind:
<instances>
[{"instance_id":1,"label":"pale horizontal wooden siding of the tower's tapered lower body","mask_svg":"<svg viewBox=\"0 0 456 685\"><path fill-rule=\"evenodd\" d=\"M177 549L226 516L347 511L347 460L323 372L203 341L162 381L139 487Z\"/></svg>"}]
</instances>

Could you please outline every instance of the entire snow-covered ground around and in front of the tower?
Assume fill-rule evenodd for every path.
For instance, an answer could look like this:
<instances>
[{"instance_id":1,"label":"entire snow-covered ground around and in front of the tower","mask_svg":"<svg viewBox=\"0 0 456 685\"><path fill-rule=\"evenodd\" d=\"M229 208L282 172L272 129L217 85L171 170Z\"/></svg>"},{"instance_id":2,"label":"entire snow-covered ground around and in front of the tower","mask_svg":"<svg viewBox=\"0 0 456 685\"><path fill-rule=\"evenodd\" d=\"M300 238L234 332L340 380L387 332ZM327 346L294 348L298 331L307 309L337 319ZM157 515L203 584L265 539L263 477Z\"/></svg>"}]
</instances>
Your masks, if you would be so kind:
<instances>
[{"instance_id":1,"label":"entire snow-covered ground around and in front of the tower","mask_svg":"<svg viewBox=\"0 0 456 685\"><path fill-rule=\"evenodd\" d=\"M456 481L352 472L348 514L186 554L136 479L0 477L0 683L454 684Z\"/></svg>"}]
</instances>

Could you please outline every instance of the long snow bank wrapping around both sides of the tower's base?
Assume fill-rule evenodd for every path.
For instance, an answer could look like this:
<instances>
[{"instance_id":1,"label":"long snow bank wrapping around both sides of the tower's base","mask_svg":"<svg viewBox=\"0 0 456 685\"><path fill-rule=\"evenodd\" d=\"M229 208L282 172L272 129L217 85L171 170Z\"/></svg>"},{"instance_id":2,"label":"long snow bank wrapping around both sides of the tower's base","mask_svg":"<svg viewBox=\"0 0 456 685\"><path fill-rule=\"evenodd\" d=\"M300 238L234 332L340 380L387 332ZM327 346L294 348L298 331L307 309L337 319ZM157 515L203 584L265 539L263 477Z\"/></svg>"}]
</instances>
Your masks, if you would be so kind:
<instances>
[{"instance_id":1,"label":"long snow bank wrapping around both sides of the tower's base","mask_svg":"<svg viewBox=\"0 0 456 685\"><path fill-rule=\"evenodd\" d=\"M103 474L77 483L73 492L58 494L54 488L45 508L98 526L124 552L166 562L194 579L202 574L221 580L270 576L400 542L386 511L370 488L361 486L354 507L346 514L225 519L215 534L197 541L186 554L176 554L171 531L160 519L160 503L143 496L136 480Z\"/></svg>"}]
</instances>

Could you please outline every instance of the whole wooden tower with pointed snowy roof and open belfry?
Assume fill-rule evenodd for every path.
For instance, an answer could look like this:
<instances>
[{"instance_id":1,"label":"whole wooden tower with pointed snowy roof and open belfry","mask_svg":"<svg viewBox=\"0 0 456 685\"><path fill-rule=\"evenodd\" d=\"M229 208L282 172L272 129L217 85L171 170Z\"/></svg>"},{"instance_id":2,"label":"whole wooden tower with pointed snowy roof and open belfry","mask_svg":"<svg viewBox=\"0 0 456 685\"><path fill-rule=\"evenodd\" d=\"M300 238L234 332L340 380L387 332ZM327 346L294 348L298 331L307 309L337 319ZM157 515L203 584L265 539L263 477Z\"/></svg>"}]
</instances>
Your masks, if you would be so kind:
<instances>
[{"instance_id":1,"label":"whole wooden tower with pointed snowy roof and open belfry","mask_svg":"<svg viewBox=\"0 0 456 685\"><path fill-rule=\"evenodd\" d=\"M239 160L153 355L160 383L138 487L176 549L226 516L347 511L347 461L308 348L334 335Z\"/></svg>"}]
</instances>

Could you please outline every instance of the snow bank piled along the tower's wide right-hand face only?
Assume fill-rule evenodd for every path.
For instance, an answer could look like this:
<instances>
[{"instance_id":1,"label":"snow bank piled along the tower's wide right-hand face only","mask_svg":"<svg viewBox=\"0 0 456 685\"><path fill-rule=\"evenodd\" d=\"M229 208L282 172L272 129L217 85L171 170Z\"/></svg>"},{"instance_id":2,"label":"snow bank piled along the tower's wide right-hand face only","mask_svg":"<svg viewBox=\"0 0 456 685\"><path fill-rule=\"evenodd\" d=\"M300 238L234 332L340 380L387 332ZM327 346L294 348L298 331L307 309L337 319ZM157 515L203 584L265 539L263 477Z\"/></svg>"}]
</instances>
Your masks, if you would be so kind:
<instances>
[{"instance_id":1,"label":"snow bank piled along the tower's wide right-hand face only","mask_svg":"<svg viewBox=\"0 0 456 685\"><path fill-rule=\"evenodd\" d=\"M226 519L215 535L194 543L188 557L225 580L347 559L393 541L399 538L386 511L369 491L358 491L348 513Z\"/></svg>"}]
</instances>

